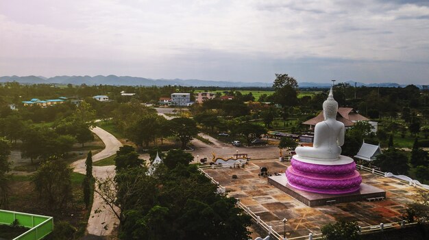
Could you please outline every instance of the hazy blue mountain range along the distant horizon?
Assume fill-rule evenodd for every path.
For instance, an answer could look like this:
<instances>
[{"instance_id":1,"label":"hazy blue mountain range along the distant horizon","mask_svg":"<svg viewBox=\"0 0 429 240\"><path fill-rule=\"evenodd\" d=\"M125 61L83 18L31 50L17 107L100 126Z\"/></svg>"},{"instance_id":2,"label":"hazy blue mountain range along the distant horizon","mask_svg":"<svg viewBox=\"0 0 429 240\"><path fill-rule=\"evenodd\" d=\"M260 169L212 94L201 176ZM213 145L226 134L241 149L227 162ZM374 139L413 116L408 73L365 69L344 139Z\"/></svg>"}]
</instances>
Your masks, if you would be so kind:
<instances>
[{"instance_id":1,"label":"hazy blue mountain range along the distant horizon","mask_svg":"<svg viewBox=\"0 0 429 240\"><path fill-rule=\"evenodd\" d=\"M163 86L163 85L182 85L182 86L193 86L193 87L208 87L217 86L223 88L235 87L235 88L246 88L246 87L260 87L266 88L271 87L271 83L262 82L243 82L243 81L208 81L199 79L147 79L143 77L130 77L130 76L116 76L108 75L102 76L97 75L94 77L90 76L56 76L56 77L42 77L42 76L4 76L0 77L1 82L16 81L18 83L28 84L73 84L73 85L143 85L143 86ZM354 81L347 81L350 85L354 86L366 86L366 87L383 87L383 88L397 88L405 87L398 83L360 83ZM314 82L299 82L299 88L329 88L331 83L314 83ZM417 85L421 88L421 85Z\"/></svg>"}]
</instances>

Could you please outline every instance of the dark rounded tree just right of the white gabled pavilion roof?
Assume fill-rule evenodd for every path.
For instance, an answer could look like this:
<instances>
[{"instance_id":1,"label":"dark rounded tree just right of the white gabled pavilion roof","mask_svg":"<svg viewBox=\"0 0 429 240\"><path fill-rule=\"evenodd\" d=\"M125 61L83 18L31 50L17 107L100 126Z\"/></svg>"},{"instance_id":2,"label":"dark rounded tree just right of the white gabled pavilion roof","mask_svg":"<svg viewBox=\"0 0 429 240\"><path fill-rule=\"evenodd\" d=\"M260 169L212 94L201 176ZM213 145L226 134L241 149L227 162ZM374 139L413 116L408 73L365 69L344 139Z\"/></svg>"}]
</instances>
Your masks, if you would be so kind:
<instances>
[{"instance_id":1,"label":"dark rounded tree just right of the white gabled pavilion roof","mask_svg":"<svg viewBox=\"0 0 429 240\"><path fill-rule=\"evenodd\" d=\"M404 151L396 148L389 148L383 154L378 155L373 164L380 167L382 171L393 174L407 174L410 169L408 157Z\"/></svg>"}]
</instances>

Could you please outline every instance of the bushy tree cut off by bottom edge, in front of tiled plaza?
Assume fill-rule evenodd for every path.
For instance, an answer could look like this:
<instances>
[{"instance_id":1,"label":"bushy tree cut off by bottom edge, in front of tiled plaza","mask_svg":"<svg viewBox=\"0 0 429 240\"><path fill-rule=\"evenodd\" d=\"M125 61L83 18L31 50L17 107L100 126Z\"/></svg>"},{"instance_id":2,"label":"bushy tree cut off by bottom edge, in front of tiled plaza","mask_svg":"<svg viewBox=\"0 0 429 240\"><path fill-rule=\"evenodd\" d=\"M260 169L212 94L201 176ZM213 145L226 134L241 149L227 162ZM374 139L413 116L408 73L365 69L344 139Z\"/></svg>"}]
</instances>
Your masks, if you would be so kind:
<instances>
[{"instance_id":1,"label":"bushy tree cut off by bottom edge, in front of tiled plaza","mask_svg":"<svg viewBox=\"0 0 429 240\"><path fill-rule=\"evenodd\" d=\"M359 226L357 222L340 221L334 224L327 224L321 229L323 239L326 240L358 240Z\"/></svg>"}]
</instances>

